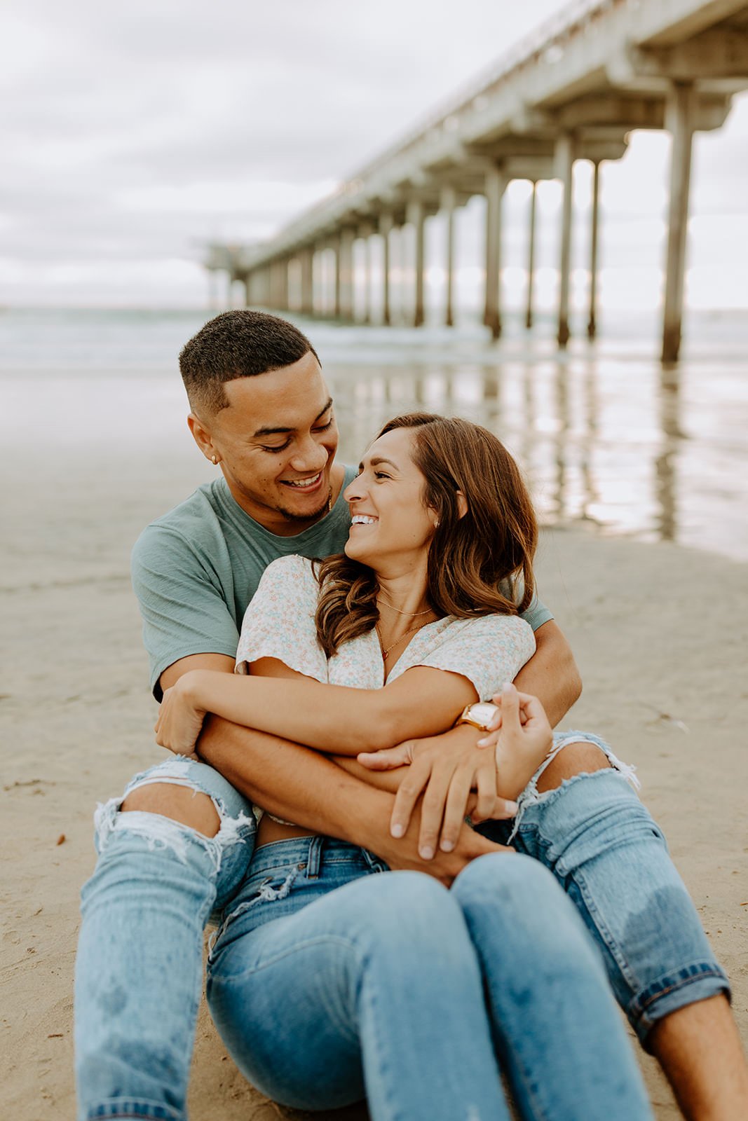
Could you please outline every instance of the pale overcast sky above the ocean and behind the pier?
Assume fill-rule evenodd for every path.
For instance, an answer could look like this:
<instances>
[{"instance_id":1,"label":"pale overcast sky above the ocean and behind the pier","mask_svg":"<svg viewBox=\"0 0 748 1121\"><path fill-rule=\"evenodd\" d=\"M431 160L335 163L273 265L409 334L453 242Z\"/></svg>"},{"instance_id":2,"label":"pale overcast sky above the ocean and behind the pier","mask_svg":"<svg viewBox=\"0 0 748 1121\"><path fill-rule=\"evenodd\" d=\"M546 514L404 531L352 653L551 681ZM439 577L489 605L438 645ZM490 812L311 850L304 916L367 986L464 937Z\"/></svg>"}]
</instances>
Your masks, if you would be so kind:
<instances>
[{"instance_id":1,"label":"pale overcast sky above the ocean and behind the pier","mask_svg":"<svg viewBox=\"0 0 748 1121\"><path fill-rule=\"evenodd\" d=\"M270 235L563 7L6 3L0 304L202 306L204 241ZM694 165L692 263L748 306L746 95ZM666 166L667 139L636 133L606 167L611 267L659 260Z\"/></svg>"}]
</instances>

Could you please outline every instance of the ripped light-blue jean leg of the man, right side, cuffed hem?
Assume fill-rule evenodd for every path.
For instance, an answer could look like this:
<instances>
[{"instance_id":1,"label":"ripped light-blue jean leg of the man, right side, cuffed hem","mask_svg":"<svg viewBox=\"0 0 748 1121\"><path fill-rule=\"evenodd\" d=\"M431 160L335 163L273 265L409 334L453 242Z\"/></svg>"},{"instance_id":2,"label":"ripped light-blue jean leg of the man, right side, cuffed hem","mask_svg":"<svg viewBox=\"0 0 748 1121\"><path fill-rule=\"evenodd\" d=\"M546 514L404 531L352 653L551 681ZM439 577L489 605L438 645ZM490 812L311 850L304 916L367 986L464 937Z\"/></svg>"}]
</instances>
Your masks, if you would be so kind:
<instances>
[{"instance_id":1,"label":"ripped light-blue jean leg of the man, right side, cuffed hem","mask_svg":"<svg viewBox=\"0 0 748 1121\"><path fill-rule=\"evenodd\" d=\"M539 794L537 781L570 743L594 743L609 768ZM547 759L519 796L514 822L478 830L545 864L602 951L618 1003L649 1049L664 1016L717 993L730 995L696 909L649 810L634 768L588 732L556 732Z\"/></svg>"}]
</instances>

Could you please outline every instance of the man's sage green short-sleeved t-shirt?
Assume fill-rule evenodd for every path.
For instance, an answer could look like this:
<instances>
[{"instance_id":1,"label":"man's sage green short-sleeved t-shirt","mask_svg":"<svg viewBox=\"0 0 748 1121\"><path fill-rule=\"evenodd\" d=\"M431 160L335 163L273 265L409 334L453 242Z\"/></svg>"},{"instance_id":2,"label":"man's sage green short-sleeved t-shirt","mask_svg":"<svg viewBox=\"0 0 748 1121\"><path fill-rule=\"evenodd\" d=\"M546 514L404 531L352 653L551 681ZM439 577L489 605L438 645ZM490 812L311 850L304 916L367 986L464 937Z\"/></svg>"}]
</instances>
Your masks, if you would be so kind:
<instances>
[{"instance_id":1,"label":"man's sage green short-sleeved t-shirt","mask_svg":"<svg viewBox=\"0 0 748 1121\"><path fill-rule=\"evenodd\" d=\"M278 537L250 518L223 478L198 487L142 531L132 550L132 586L157 701L161 674L179 658L234 657L244 611L273 560L342 553L351 525L342 495L354 475L353 467L345 467L330 513L293 537ZM523 618L537 630L553 615L535 596Z\"/></svg>"}]
</instances>

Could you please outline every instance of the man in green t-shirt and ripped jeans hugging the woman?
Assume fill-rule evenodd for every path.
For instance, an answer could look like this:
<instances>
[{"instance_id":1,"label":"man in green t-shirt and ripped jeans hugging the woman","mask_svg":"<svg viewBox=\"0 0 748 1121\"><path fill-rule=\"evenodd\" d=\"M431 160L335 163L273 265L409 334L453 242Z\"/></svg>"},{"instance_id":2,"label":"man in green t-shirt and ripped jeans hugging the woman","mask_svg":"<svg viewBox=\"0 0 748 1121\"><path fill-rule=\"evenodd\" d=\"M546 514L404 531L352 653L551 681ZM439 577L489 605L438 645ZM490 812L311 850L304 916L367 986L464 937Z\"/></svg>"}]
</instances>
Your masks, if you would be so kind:
<instances>
[{"instance_id":1,"label":"man in green t-shirt and ripped jeans hugging the woman","mask_svg":"<svg viewBox=\"0 0 748 1121\"><path fill-rule=\"evenodd\" d=\"M224 313L187 343L181 369L191 432L222 478L148 527L133 553L157 700L188 669L233 670L243 611L270 560L341 550L341 491L352 478L334 463L338 433L317 355L290 324ZM535 602L528 618L537 651L517 685L541 697L555 725L579 677L547 609ZM415 756L449 769L478 750L481 734L461 725L417 743ZM514 843L546 863L578 905L685 1115L738 1117L748 1082L727 979L664 840L594 738L564 742L526 799ZM452 851L438 850L427 804L394 837L390 794L276 736L211 719L198 752L204 763L161 763L99 812L76 978L82 1118L184 1118L203 928L243 876L250 800L297 822L299 834L338 836L446 883L497 847L463 827ZM492 835L508 833L497 826Z\"/></svg>"}]
</instances>

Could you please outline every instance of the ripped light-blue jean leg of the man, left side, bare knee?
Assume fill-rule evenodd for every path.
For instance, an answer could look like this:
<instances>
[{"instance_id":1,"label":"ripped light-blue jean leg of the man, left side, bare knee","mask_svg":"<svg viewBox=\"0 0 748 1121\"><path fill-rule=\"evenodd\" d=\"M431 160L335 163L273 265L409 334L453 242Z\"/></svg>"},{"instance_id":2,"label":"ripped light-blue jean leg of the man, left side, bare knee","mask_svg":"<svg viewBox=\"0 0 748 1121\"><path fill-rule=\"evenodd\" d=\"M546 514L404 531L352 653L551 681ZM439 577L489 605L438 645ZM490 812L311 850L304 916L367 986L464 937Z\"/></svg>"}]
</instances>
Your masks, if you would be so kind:
<instances>
[{"instance_id":1,"label":"ripped light-blue jean leg of the man, left side, bare knee","mask_svg":"<svg viewBox=\"0 0 748 1121\"><path fill-rule=\"evenodd\" d=\"M157 814L119 813L131 790L151 782L207 794L216 835ZM175 757L137 775L94 822L99 859L82 892L75 964L79 1118L182 1121L204 929L244 878L255 816L212 767Z\"/></svg>"}]
</instances>

